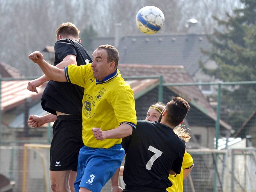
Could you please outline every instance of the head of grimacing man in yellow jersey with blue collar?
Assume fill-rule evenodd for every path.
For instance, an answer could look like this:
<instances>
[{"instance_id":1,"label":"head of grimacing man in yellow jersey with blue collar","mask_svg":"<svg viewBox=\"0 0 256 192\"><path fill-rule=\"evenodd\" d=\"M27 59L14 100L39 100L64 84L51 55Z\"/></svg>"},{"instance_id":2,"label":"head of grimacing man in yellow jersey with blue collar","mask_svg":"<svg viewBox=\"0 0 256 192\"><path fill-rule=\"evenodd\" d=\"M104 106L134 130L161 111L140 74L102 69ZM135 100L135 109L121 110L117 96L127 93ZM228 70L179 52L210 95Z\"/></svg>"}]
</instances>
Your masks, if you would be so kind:
<instances>
[{"instance_id":1,"label":"head of grimacing man in yellow jersey with blue collar","mask_svg":"<svg viewBox=\"0 0 256 192\"><path fill-rule=\"evenodd\" d=\"M116 71L119 54L116 47L112 45L100 45L92 53L93 76L102 81L108 75Z\"/></svg>"}]
</instances>

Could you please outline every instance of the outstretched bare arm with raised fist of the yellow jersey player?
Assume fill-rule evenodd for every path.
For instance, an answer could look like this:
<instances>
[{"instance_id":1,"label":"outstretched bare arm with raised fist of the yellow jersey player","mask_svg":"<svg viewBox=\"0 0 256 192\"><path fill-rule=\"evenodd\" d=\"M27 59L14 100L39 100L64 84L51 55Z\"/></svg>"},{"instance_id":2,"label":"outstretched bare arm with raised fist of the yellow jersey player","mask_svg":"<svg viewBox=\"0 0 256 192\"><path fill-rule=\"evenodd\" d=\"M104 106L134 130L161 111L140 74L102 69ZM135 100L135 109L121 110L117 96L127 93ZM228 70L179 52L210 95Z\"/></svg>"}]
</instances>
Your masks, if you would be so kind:
<instances>
[{"instance_id":1,"label":"outstretched bare arm with raised fist of the yellow jersey player","mask_svg":"<svg viewBox=\"0 0 256 192\"><path fill-rule=\"evenodd\" d=\"M30 53L28 55L28 58L31 59L34 63L37 63L49 79L60 82L66 81L64 70L47 63L44 60L43 54L41 52L35 51L33 53Z\"/></svg>"}]
</instances>

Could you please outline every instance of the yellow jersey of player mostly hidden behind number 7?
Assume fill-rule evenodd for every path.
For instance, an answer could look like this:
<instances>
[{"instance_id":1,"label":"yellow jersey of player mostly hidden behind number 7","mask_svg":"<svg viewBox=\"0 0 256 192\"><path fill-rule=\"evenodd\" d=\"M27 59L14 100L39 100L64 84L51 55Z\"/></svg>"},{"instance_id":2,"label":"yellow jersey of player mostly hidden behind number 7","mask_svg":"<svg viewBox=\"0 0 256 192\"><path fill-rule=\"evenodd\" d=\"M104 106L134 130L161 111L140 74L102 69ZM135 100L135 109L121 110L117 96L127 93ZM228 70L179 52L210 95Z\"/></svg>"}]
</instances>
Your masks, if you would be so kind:
<instances>
[{"instance_id":1,"label":"yellow jersey of player mostly hidden behind number 7","mask_svg":"<svg viewBox=\"0 0 256 192\"><path fill-rule=\"evenodd\" d=\"M182 192L183 191L183 169L189 169L193 165L192 156L185 151L183 161L182 161L182 169L180 174L177 174L176 177L174 175L169 175L169 180L172 182L172 187L167 188L168 192Z\"/></svg>"}]
</instances>

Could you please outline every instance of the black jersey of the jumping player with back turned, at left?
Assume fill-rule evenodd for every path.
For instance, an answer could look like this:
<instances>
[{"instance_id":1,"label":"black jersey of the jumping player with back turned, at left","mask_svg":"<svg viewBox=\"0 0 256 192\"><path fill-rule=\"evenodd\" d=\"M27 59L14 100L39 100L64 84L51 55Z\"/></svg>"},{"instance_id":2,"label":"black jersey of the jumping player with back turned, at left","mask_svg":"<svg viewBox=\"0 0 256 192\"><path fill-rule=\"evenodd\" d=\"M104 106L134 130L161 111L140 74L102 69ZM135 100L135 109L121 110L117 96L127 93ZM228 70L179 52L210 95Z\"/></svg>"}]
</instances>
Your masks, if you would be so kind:
<instances>
[{"instance_id":1,"label":"black jersey of the jumping player with back turned, at left","mask_svg":"<svg viewBox=\"0 0 256 192\"><path fill-rule=\"evenodd\" d=\"M77 65L92 63L92 58L76 40L60 39L54 45L54 66L67 55L76 55ZM82 116L82 99L84 88L67 82L49 81L42 96L42 108L54 115L56 111L70 115Z\"/></svg>"}]
</instances>

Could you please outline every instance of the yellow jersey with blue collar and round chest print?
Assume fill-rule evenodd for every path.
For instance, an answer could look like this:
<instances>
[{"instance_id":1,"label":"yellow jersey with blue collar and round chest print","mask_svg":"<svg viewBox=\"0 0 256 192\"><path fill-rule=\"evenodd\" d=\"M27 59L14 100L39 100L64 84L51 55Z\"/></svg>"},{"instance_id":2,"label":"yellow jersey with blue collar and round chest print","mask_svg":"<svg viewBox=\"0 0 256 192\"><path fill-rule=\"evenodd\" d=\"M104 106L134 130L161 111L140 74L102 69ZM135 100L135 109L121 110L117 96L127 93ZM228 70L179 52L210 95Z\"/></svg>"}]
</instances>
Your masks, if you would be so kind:
<instances>
[{"instance_id":1,"label":"yellow jersey with blue collar and round chest print","mask_svg":"<svg viewBox=\"0 0 256 192\"><path fill-rule=\"evenodd\" d=\"M91 64L65 68L67 82L84 87L83 142L91 148L110 148L122 139L96 140L93 127L107 131L122 123L136 127L134 95L119 70L99 81L93 77Z\"/></svg>"}]
</instances>

